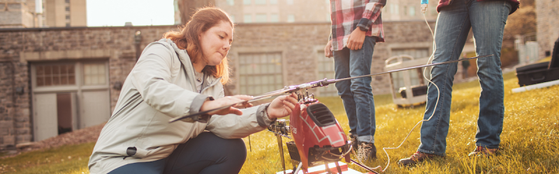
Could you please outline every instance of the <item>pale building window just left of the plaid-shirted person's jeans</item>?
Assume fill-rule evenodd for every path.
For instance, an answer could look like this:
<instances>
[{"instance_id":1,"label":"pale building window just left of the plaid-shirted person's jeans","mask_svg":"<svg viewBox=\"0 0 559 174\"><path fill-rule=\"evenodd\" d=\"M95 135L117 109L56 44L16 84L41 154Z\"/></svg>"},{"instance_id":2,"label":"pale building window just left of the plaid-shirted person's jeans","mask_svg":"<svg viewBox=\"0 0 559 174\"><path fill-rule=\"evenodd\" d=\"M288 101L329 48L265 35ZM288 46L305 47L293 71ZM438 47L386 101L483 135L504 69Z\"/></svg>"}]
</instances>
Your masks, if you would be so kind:
<instances>
[{"instance_id":1,"label":"pale building window just left of the plaid-shirted person's jeans","mask_svg":"<svg viewBox=\"0 0 559 174\"><path fill-rule=\"evenodd\" d=\"M327 58L324 56L324 50L319 50L317 52L317 62L319 69L318 79L335 79L333 58ZM321 97L337 96L337 90L332 84L326 88L319 88L319 94Z\"/></svg>"}]
</instances>

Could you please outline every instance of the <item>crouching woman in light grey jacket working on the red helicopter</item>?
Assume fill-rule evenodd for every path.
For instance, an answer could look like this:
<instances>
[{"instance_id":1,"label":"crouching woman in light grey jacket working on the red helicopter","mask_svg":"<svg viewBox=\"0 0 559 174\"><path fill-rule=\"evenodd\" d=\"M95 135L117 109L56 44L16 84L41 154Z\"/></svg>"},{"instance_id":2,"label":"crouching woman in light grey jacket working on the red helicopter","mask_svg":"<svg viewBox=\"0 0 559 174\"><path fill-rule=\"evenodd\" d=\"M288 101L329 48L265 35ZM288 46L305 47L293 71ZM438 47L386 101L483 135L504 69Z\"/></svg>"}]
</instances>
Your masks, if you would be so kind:
<instances>
[{"instance_id":1,"label":"crouching woman in light grey jacket working on the red helicopter","mask_svg":"<svg viewBox=\"0 0 559 174\"><path fill-rule=\"evenodd\" d=\"M168 122L252 98L224 97L232 41L228 15L219 8L202 8L181 31L167 32L147 45L101 131L89 172L238 173L247 155L240 138L289 115L296 95Z\"/></svg>"}]
</instances>

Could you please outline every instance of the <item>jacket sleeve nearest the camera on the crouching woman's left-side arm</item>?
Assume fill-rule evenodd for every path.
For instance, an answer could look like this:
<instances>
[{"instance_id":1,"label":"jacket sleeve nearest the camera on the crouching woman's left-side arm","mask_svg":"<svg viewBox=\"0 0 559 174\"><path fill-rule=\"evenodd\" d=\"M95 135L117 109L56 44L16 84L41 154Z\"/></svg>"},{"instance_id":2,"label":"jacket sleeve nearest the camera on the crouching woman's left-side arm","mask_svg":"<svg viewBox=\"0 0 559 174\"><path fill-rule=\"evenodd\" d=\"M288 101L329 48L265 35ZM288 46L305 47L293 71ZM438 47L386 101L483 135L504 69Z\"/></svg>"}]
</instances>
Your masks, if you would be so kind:
<instances>
[{"instance_id":1,"label":"jacket sleeve nearest the camera on the crouching woman's left-side arm","mask_svg":"<svg viewBox=\"0 0 559 174\"><path fill-rule=\"evenodd\" d=\"M184 116L189 113L192 102L201 97L170 83L173 66L180 66L175 52L154 42L145 48L129 78L146 104L167 116Z\"/></svg>"}]
</instances>

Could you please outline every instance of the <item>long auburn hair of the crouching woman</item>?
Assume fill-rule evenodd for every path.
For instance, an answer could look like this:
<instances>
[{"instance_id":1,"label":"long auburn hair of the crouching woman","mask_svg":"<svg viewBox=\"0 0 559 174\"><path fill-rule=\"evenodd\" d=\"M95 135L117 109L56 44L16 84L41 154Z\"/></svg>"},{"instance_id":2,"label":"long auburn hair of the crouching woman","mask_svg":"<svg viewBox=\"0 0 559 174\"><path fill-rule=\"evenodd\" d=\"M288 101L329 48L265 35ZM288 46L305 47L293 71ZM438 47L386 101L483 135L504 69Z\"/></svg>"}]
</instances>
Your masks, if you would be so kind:
<instances>
[{"instance_id":1,"label":"long auburn hair of the crouching woman","mask_svg":"<svg viewBox=\"0 0 559 174\"><path fill-rule=\"evenodd\" d=\"M186 49L190 56L190 61L196 63L198 61L208 60L203 58L200 40L198 36L208 31L213 26L217 26L219 22L229 22L231 28L234 27L233 21L227 13L217 7L198 8L196 13L192 15L186 25L180 27L180 31L168 31L164 34L164 38L173 40L179 49ZM222 77L220 82L226 84L229 81L229 65L228 58L224 58L219 65L206 65L202 70L204 74L212 74L215 78Z\"/></svg>"}]
</instances>

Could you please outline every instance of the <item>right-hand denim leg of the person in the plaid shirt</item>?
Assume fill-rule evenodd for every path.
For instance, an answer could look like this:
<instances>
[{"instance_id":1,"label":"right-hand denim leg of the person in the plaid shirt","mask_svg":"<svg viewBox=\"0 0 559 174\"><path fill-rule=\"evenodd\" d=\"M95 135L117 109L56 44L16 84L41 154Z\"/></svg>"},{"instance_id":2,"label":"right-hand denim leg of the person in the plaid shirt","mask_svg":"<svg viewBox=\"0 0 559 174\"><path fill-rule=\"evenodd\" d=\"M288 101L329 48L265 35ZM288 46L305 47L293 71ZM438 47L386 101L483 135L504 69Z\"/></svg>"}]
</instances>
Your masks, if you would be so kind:
<instances>
[{"instance_id":1,"label":"right-hand denim leg of the person in the plaid shirt","mask_svg":"<svg viewBox=\"0 0 559 174\"><path fill-rule=\"evenodd\" d=\"M367 36L363 47L349 51L349 75L358 77L371 74L372 52L375 49L375 37ZM375 101L372 98L371 77L351 79L351 93L353 93L356 118L357 140L375 143Z\"/></svg>"}]
</instances>

